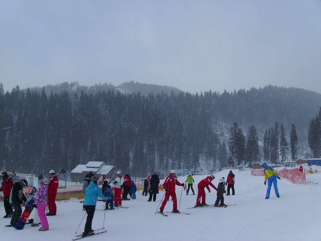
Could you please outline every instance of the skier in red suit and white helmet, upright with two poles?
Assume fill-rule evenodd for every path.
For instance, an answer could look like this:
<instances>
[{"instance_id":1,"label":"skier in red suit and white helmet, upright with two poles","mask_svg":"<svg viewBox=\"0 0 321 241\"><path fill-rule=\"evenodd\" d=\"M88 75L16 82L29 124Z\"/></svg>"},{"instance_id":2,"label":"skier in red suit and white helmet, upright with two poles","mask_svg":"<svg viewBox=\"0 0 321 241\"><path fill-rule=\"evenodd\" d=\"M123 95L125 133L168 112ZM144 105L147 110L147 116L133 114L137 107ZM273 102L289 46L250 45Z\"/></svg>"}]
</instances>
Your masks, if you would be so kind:
<instances>
[{"instance_id":1,"label":"skier in red suit and white helmet, upright with two poles","mask_svg":"<svg viewBox=\"0 0 321 241\"><path fill-rule=\"evenodd\" d=\"M184 186L183 183L178 182L175 170L170 170L169 176L166 177L164 184L163 184L163 189L165 190L165 198L160 206L160 211L159 211L160 213L163 213L165 205L166 205L167 201L169 200L170 196L173 199L173 211L172 212L179 213L179 211L177 210L177 198L176 198L176 192L175 192L176 185Z\"/></svg>"}]
</instances>

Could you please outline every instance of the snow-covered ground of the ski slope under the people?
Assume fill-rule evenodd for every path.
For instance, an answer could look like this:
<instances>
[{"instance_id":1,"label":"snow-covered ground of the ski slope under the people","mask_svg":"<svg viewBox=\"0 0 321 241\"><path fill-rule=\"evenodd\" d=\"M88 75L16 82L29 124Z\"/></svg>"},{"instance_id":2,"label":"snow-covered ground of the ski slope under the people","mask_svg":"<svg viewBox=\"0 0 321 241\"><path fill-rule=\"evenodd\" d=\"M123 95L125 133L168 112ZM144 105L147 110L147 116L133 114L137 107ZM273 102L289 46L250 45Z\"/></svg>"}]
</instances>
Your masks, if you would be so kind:
<instances>
[{"instance_id":1,"label":"snow-covered ground of the ski slope under the people","mask_svg":"<svg viewBox=\"0 0 321 241\"><path fill-rule=\"evenodd\" d=\"M217 186L221 177L226 179L228 172L224 170L216 173L213 184ZM177 186L178 205L181 196L179 210L191 214L166 213L168 217L164 217L155 214L164 193L158 194L156 202L147 202L148 197L142 196L140 191L136 193L136 200L123 201L122 205L128 209L104 212L103 202L99 202L92 228L102 227L105 214L104 227L107 232L83 240L321 240L321 174L306 175L307 181L318 184L297 185L286 179L278 180L281 197L275 196L272 187L270 199L266 200L267 186L264 186L263 176L252 176L250 171L233 170L233 173L236 175L236 195L224 196L224 202L235 206L186 209L195 205L196 195L187 196L183 192L181 196L182 188ZM195 184L206 176L194 175ZM183 182L186 177L178 177L178 180ZM206 203L213 204L215 200L215 190L211 188L211 193L206 191ZM171 211L172 207L169 201L164 211ZM3 206L0 210L3 216ZM32 228L30 225L26 225L23 230L7 228L4 225L9 224L10 219L1 218L1 235L6 240L72 240L85 214L82 204L79 201L57 202L57 210L56 216L48 217L49 231L39 232L39 227ZM30 218L33 218L33 213ZM85 219L77 234L83 232Z\"/></svg>"}]
</instances>

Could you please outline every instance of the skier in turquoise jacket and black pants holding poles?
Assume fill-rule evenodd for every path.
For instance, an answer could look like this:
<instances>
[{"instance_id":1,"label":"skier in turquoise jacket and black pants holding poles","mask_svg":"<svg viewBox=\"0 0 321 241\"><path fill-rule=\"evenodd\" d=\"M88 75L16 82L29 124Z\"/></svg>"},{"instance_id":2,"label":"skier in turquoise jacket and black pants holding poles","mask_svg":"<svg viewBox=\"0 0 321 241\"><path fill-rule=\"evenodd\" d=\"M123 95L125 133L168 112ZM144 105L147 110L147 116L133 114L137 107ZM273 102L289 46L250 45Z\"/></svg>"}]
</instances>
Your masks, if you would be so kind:
<instances>
[{"instance_id":1,"label":"skier in turquoise jacket and black pants holding poles","mask_svg":"<svg viewBox=\"0 0 321 241\"><path fill-rule=\"evenodd\" d=\"M85 191L85 201L83 203L84 204L83 206L87 212L87 220L85 224L85 230L82 233L82 237L86 237L94 234L93 230L91 229L91 223L92 223L92 219L94 218L98 196L100 196L102 200L107 199L100 191L100 187L97 186L98 180L99 180L98 177L92 176L90 178L90 183Z\"/></svg>"}]
</instances>

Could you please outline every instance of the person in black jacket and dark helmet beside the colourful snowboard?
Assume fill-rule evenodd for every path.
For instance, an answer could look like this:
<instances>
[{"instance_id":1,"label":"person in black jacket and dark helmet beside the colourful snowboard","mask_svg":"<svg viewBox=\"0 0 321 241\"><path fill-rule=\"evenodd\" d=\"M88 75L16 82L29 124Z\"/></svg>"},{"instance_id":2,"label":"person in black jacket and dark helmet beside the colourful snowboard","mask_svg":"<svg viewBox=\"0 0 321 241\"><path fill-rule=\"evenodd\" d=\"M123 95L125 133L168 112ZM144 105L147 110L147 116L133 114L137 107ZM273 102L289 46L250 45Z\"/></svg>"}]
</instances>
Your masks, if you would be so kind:
<instances>
[{"instance_id":1,"label":"person in black jacket and dark helmet beside the colourful snowboard","mask_svg":"<svg viewBox=\"0 0 321 241\"><path fill-rule=\"evenodd\" d=\"M28 186L27 180L22 179L20 182L14 183L11 189L9 201L12 203L14 212L12 214L10 224L13 227L16 225L22 214L21 206L24 206L24 203L27 201L27 198L23 195L23 188L26 186Z\"/></svg>"}]
</instances>

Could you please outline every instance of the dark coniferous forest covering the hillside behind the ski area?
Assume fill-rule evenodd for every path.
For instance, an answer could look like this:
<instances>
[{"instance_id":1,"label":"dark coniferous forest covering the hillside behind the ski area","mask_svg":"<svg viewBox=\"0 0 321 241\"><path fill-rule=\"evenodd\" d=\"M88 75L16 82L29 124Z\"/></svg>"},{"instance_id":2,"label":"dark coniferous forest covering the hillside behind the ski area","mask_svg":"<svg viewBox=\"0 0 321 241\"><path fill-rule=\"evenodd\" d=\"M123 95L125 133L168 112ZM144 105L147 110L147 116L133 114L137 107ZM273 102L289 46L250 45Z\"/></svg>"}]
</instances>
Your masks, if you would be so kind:
<instances>
[{"instance_id":1,"label":"dark coniferous forest covering the hillside behind the ski area","mask_svg":"<svg viewBox=\"0 0 321 241\"><path fill-rule=\"evenodd\" d=\"M280 138L276 149L287 148L294 124L295 148L302 155L312 150L316 157L321 135L312 140L308 132L318 123L320 129L321 118L313 119L320 106L320 94L271 85L222 94L141 95L115 89L46 93L45 88L19 86L4 93L1 84L1 168L14 171L23 166L26 173L45 173L102 161L142 176L147 170L192 168L200 160L208 169L234 161L251 166L270 158L263 147L264 138L270 140L265 144L272 143L268 133ZM308 150L310 142L314 146ZM230 158L227 146L237 160ZM282 150L277 155L284 158Z\"/></svg>"}]
</instances>

